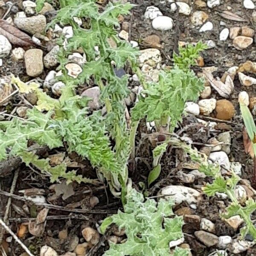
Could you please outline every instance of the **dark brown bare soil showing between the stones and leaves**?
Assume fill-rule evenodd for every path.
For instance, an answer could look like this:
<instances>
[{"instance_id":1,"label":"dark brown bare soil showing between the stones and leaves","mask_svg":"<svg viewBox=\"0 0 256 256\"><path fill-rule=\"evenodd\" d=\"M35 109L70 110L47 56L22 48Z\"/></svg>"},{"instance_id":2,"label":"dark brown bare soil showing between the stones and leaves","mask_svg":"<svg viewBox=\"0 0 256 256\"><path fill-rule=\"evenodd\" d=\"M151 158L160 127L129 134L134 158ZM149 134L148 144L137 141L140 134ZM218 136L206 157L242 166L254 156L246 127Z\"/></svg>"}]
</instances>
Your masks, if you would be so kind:
<instances>
[{"instance_id":1,"label":"dark brown bare soil showing between the stones and leaves","mask_svg":"<svg viewBox=\"0 0 256 256\"><path fill-rule=\"evenodd\" d=\"M183 1L184 2L184 1ZM157 6L163 15L170 16L169 6L170 3L166 1L156 1L156 0L132 0L131 3L134 3L136 6L132 10L131 16L125 17L125 20L130 24L130 38L131 40L142 42L141 39L149 35L157 35L160 38L160 44L163 46L161 49L162 53L162 64L172 65L172 53L177 51L178 41L184 42L198 42L198 41L207 41L212 39L216 43L216 47L208 49L202 53L204 58L204 67L215 66L218 68L213 75L216 77L221 77L229 67L239 66L245 61L256 61L256 45L253 43L252 46L244 49L243 51L237 50L232 45L232 40L227 39L226 41L219 41L219 33L224 27L233 27L233 26L250 26L255 29L255 23L251 20L251 15L253 10L244 9L241 5L242 0L224 0L221 1L220 6L209 9L208 7L198 8L192 4L192 1L185 1L192 6L192 12L195 10L202 10L207 12L209 15L209 20L213 23L213 29L208 32L200 33L198 28L192 25L190 16L180 15L177 12L171 14L175 26L174 29L161 32L155 30L151 26L150 20L145 20L144 13L147 6ZM232 12L237 15L246 18L247 22L237 22L233 20L227 20L220 16L220 12L227 9L227 6L232 7ZM10 13L12 14L12 12ZM226 23L225 26L220 25L220 21ZM256 38L255 38L256 39ZM255 40L254 39L254 40ZM143 42L140 44L140 49L146 49ZM44 79L49 70L44 70L44 73L41 74L40 78ZM195 72L200 72L199 67L195 67ZM30 78L26 75L24 62L21 60L16 65L13 65L11 58L7 59L2 67L0 67L0 76L6 76L10 73L15 76L19 76L21 80L28 81ZM256 78L254 73L244 73L245 75L250 75L251 77ZM239 110L238 104L238 94L241 90L246 90L250 97L256 96L254 87L242 87L238 77L235 77L234 80L235 89L233 94L230 97L233 105L236 109L236 114L231 121L221 121L215 119L215 113L212 113L210 117L214 118L213 121L221 124L224 123L228 126L228 131L231 134L231 153L229 155L230 161L240 162L242 164L242 178L246 180L252 180L253 175L253 161L251 160L248 154L244 152L243 137L242 137L242 128L243 122L241 118L241 113ZM222 99L221 96L213 89L212 98ZM15 108L15 104L18 104L19 99L14 99L7 106L10 109ZM210 121L207 117L200 116L201 119L205 121ZM190 125L188 131L184 132L183 128L187 125ZM194 126L193 126L194 125ZM184 116L183 122L179 123L178 128L176 128L175 133L181 131L181 135L186 134L186 136L191 137L195 143L206 143L207 140L211 137L217 136L219 133L227 130L218 130L214 132L208 131L207 128L204 128L202 134L200 134L200 123L195 119L194 116L188 115ZM133 184L138 189L141 189L140 182L145 183L150 172L152 165L152 145L147 138L143 138L141 135L148 133L145 122L141 122L137 136L137 157L136 157L136 166L134 169L130 169L129 177L132 178ZM200 146L198 146L200 148ZM44 157L47 155L57 154L63 151L63 148L46 151ZM76 155L70 155L70 158L76 159L76 161L81 164L78 173L83 174L87 177L95 178L95 172L90 166L90 163L87 160L81 159ZM162 172L160 177L154 182L153 186L148 190L148 195L156 195L159 189L166 185L184 185L176 177L176 173L180 168L180 163L182 159L179 158L179 151L175 148L169 148L169 150L164 154L161 165ZM108 187L101 186L92 186L85 184L73 184L74 194L67 199L63 199L60 196L56 196L54 189L49 189L51 183L48 177L41 175L41 173L31 170L28 167L21 164L18 168L17 183L15 186L15 191L13 194L23 196L20 193L22 189L41 189L42 195L47 198L47 203L51 204L48 216L52 216L53 219L48 219L47 224L44 227L44 233L39 238L33 236L32 234L27 233L22 240L23 243L29 248L29 250L35 255L39 255L40 248L47 244L54 248L59 254L65 253L72 248L72 241L74 237L78 237L79 241L83 241L81 236L81 230L83 227L90 226L96 228L99 224L99 221L103 220L107 215L117 212L118 209L122 209L122 204L118 198L114 198L111 195ZM16 172L17 172L16 170ZM189 170L185 170L188 172ZM9 175L0 178L0 215L3 216L8 201L8 196L2 192L9 192L12 186L15 172L9 173ZM193 184L186 184L185 186L196 187L207 182L207 179L197 179ZM256 184L253 184L256 188ZM99 204L95 206L91 204L90 199L92 197L97 197L99 199ZM75 206L74 203L78 203L78 206ZM73 204L70 206L70 204ZM217 236L231 236L236 238L238 236L239 230L234 230L231 228L225 221L221 220L219 212L222 211L228 202L219 200L216 197L204 197L204 200L197 206L197 209L191 209L191 214L200 216L201 218L208 218L215 223L215 230ZM62 208L61 208L62 207ZM63 207L66 207L65 209ZM174 210L177 210L181 207L188 207L186 204L177 206ZM9 227L13 231L20 229L21 223L27 223L31 218L35 218L37 212L41 209L40 207L35 207L29 205L26 202L20 200L20 198L12 198L11 210L8 216ZM70 212L69 212L70 211ZM255 216L252 216L255 219ZM67 238L61 240L59 237L59 232L61 230L67 230ZM215 251L215 248L209 248L201 244L197 239L195 239L194 232L198 230L198 227L193 224L185 224L183 226L183 232L185 233L185 242L189 244L192 249L193 256L208 256L210 253ZM12 256L19 256L23 253L20 245L15 241L11 243L6 242L6 238L9 235L5 234L3 237L3 247L9 247ZM250 239L248 237L247 239ZM95 247L93 251L90 251L90 256L100 256L103 254L104 250L108 248L107 236L101 237L102 243L105 246L99 245ZM232 256L233 254L229 254ZM256 256L256 246L251 247L244 253L236 254L237 256Z\"/></svg>"}]
</instances>

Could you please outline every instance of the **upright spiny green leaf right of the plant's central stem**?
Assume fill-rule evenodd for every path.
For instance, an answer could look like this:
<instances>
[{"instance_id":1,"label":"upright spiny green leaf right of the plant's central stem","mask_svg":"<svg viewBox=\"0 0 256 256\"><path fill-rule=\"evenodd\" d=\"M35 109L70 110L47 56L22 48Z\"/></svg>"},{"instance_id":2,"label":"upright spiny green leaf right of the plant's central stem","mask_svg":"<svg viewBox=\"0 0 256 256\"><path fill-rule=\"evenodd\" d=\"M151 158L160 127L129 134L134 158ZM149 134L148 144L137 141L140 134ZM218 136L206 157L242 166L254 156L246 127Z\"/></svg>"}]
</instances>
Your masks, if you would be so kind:
<instances>
[{"instance_id":1,"label":"upright spiny green leaf right of the plant's central stem","mask_svg":"<svg viewBox=\"0 0 256 256\"><path fill-rule=\"evenodd\" d=\"M179 55L173 54L174 67L160 72L159 82L148 84L132 110L132 120L138 121L144 116L148 122L155 121L158 131L173 130L181 119L186 101L196 101L204 89L203 79L194 71L195 59L206 46L199 42L193 47L179 47Z\"/></svg>"}]
</instances>

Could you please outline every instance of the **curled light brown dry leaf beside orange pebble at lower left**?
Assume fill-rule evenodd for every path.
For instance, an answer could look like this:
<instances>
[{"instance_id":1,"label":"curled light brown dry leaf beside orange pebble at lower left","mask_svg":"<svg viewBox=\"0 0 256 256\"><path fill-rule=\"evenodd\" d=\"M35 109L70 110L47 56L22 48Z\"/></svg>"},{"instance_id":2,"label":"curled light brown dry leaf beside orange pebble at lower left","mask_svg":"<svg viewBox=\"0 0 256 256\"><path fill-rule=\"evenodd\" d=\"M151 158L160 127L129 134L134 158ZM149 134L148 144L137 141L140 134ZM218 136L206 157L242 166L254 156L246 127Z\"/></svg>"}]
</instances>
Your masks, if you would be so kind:
<instances>
[{"instance_id":1,"label":"curled light brown dry leaf beside orange pebble at lower left","mask_svg":"<svg viewBox=\"0 0 256 256\"><path fill-rule=\"evenodd\" d=\"M29 221L30 234L33 236L41 236L44 233L45 220L48 212L49 209L44 208L38 213L35 221Z\"/></svg>"}]
</instances>

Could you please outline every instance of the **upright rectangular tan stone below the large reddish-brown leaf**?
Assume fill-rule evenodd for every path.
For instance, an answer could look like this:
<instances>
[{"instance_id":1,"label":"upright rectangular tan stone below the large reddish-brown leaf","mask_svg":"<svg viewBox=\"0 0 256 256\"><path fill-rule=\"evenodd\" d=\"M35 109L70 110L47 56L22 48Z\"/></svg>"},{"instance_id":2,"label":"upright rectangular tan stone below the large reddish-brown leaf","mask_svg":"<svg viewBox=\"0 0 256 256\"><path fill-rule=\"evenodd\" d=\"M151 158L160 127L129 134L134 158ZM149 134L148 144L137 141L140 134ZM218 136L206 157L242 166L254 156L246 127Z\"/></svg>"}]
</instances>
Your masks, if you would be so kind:
<instances>
[{"instance_id":1,"label":"upright rectangular tan stone below the large reddish-brown leaf","mask_svg":"<svg viewBox=\"0 0 256 256\"><path fill-rule=\"evenodd\" d=\"M39 76L44 71L43 51L29 49L24 54L26 73L28 76Z\"/></svg>"}]
</instances>

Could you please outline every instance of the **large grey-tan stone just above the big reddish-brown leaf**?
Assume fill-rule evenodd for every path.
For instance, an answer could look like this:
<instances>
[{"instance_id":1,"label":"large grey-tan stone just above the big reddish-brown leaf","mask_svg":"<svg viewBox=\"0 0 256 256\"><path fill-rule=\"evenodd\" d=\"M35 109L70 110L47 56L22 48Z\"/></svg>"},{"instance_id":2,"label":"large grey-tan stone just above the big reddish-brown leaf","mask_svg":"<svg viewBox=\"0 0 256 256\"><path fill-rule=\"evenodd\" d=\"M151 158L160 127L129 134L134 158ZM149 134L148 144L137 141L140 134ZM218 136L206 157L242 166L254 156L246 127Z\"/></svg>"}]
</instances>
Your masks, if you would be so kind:
<instances>
[{"instance_id":1,"label":"large grey-tan stone just above the big reddish-brown leaf","mask_svg":"<svg viewBox=\"0 0 256 256\"><path fill-rule=\"evenodd\" d=\"M41 14L32 17L15 17L14 23L19 29L34 35L44 32L46 17Z\"/></svg>"}]
</instances>

